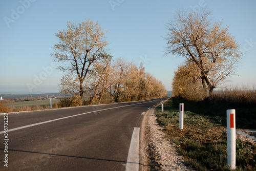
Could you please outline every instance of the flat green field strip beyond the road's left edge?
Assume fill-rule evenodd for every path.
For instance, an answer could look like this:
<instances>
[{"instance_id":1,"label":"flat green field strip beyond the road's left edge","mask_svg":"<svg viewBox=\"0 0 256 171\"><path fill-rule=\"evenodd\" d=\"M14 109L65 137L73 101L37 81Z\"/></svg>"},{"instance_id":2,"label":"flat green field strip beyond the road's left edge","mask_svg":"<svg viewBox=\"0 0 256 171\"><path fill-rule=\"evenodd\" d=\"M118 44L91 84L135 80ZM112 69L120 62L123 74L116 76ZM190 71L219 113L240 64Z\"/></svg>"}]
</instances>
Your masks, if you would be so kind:
<instances>
[{"instance_id":1,"label":"flat green field strip beyond the road's left edge","mask_svg":"<svg viewBox=\"0 0 256 171\"><path fill-rule=\"evenodd\" d=\"M53 104L59 102L59 99L53 99ZM20 108L23 106L33 107L33 106L44 106L44 105L50 105L50 99L44 99L44 100L35 100L35 101L20 101L15 103L8 103L8 107L16 107Z\"/></svg>"}]
</instances>

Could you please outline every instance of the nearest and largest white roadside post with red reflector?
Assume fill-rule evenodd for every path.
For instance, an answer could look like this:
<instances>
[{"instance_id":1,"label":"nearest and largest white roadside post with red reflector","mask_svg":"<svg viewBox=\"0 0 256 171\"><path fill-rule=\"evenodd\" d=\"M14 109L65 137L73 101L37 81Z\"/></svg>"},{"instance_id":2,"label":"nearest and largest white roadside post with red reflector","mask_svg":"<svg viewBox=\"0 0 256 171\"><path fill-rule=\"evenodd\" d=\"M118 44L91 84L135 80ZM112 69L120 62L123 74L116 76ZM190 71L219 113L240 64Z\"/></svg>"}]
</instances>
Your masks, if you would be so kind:
<instances>
[{"instance_id":1,"label":"nearest and largest white roadside post with red reflector","mask_svg":"<svg viewBox=\"0 0 256 171\"><path fill-rule=\"evenodd\" d=\"M227 166L236 169L236 110L227 110Z\"/></svg>"}]
</instances>

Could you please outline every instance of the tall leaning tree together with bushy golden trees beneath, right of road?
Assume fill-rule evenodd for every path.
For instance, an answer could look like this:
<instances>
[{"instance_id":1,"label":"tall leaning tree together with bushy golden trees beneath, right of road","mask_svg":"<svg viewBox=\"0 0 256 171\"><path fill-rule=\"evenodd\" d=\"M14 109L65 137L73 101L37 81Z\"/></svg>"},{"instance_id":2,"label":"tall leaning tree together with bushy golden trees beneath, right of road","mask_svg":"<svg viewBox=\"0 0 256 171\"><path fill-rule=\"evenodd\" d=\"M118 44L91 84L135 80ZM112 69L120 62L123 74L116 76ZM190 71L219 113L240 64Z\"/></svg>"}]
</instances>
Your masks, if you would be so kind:
<instances>
[{"instance_id":1,"label":"tall leaning tree together with bushy golden trees beneath, right of road","mask_svg":"<svg viewBox=\"0 0 256 171\"><path fill-rule=\"evenodd\" d=\"M209 15L206 9L178 11L167 24L166 54L185 57L173 79L174 96L201 100L234 73L243 55L228 27Z\"/></svg>"}]
</instances>

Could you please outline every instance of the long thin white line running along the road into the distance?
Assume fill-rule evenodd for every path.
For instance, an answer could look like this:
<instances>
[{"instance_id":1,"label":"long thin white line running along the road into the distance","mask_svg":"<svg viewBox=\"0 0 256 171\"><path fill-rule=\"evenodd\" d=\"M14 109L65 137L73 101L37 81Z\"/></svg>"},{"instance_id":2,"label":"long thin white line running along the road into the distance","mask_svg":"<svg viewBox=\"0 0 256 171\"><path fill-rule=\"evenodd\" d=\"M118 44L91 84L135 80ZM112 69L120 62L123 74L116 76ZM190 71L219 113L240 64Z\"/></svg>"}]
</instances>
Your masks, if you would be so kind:
<instances>
[{"instance_id":1,"label":"long thin white line running along the road into the distance","mask_svg":"<svg viewBox=\"0 0 256 171\"><path fill-rule=\"evenodd\" d=\"M147 102L143 102L143 103L147 103ZM57 120L67 119L67 118L71 118L71 117L75 117L75 116L80 116L80 115L84 115L84 114L89 114L89 113L93 113L93 112L105 111L105 110L116 109L116 108L123 108L123 107L126 107L126 106L137 105L137 104L142 104L142 103L123 105L123 106L118 106L118 107L114 107L114 108L101 109L101 110L97 110L97 111L91 111L91 112L86 112L86 113L82 113L82 114L66 116L66 117L63 117L63 118L58 118L58 119L53 119L53 120L48 120L48 121L44 121L44 122L34 123L34 124L26 125L26 126L16 127L14 129L8 130L8 132L16 131L16 130L21 130L21 129L25 129L27 127L36 126L36 125L40 125L40 124L44 124L44 123L49 123L49 122L54 122L54 121L57 121ZM4 134L4 131L1 131L0 134Z\"/></svg>"}]
</instances>

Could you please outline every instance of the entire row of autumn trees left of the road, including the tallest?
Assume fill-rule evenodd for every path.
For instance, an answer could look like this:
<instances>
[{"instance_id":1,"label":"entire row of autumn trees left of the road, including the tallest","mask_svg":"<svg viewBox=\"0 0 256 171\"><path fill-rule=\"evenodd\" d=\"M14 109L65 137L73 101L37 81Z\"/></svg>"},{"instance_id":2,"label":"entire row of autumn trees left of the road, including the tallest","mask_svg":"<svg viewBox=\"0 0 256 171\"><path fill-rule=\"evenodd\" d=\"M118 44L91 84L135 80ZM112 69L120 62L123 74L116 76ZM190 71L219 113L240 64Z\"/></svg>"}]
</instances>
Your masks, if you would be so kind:
<instances>
[{"instance_id":1,"label":"entire row of autumn trees left of the road, including the tallest","mask_svg":"<svg viewBox=\"0 0 256 171\"><path fill-rule=\"evenodd\" d=\"M90 104L131 101L167 95L161 81L124 58L113 59L108 54L105 33L98 23L88 19L79 25L68 22L67 29L58 31L59 43L52 54L66 72L61 79L60 93L78 94L80 104L84 94Z\"/></svg>"}]
</instances>

